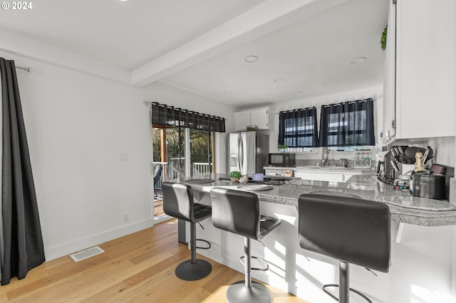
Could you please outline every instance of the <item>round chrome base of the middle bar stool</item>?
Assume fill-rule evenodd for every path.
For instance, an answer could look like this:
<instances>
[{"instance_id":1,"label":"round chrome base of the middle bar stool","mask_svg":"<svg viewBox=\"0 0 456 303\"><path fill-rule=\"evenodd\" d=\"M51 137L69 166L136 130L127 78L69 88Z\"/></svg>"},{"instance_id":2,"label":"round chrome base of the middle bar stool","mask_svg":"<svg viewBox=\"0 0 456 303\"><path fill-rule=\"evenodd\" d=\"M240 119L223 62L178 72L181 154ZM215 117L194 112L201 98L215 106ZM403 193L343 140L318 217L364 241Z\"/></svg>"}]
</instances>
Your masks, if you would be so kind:
<instances>
[{"instance_id":1,"label":"round chrome base of the middle bar stool","mask_svg":"<svg viewBox=\"0 0 456 303\"><path fill-rule=\"evenodd\" d=\"M252 287L245 287L245 281L238 281L228 287L228 302L232 303L270 303L269 290L258 282L252 282Z\"/></svg>"}]
</instances>

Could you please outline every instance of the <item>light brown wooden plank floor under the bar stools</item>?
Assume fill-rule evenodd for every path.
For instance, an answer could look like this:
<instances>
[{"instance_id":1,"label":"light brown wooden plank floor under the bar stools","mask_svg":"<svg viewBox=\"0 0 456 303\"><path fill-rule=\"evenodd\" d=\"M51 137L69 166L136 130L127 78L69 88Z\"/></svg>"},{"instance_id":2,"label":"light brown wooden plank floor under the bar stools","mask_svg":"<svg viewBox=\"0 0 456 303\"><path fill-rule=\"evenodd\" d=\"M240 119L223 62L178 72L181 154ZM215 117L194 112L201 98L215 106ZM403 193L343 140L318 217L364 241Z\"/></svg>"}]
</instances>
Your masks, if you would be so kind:
<instances>
[{"instance_id":1,"label":"light brown wooden plank floor under the bar stools","mask_svg":"<svg viewBox=\"0 0 456 303\"><path fill-rule=\"evenodd\" d=\"M208 260L210 275L183 281L175 267L190 258L177 243L177 220L98 245L105 250L80 262L69 256L45 262L23 280L0 287L0 302L227 302L227 287L244 275ZM305 302L266 285L273 302Z\"/></svg>"}]
</instances>

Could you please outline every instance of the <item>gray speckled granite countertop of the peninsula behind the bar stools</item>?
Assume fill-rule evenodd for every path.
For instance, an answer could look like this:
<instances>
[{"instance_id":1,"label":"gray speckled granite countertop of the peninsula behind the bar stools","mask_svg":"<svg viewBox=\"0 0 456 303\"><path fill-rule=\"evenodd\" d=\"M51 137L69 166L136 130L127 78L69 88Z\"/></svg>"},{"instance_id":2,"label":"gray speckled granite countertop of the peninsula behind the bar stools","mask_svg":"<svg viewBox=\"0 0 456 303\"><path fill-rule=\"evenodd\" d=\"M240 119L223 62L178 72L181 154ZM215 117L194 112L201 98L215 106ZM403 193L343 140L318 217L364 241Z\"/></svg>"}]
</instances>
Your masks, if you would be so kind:
<instances>
[{"instance_id":1,"label":"gray speckled granite countertop of the peninsula behind the bar stools","mask_svg":"<svg viewBox=\"0 0 456 303\"><path fill-rule=\"evenodd\" d=\"M199 181L195 180L198 183L195 181L187 182L185 179L175 181L189 184L195 189L207 192L215 186L238 189L239 183L219 180L220 177L226 176L215 174L194 177L193 179L199 179ZM272 185L271 187L266 191L254 191L260 201L297 206L298 198L302 193L353 196L388 204L391 220L401 223L425 226L456 225L456 206L450 202L414 197L409 191L395 189L381 183L376 179L375 174L357 174L351 176L346 182L291 178L286 184Z\"/></svg>"}]
</instances>

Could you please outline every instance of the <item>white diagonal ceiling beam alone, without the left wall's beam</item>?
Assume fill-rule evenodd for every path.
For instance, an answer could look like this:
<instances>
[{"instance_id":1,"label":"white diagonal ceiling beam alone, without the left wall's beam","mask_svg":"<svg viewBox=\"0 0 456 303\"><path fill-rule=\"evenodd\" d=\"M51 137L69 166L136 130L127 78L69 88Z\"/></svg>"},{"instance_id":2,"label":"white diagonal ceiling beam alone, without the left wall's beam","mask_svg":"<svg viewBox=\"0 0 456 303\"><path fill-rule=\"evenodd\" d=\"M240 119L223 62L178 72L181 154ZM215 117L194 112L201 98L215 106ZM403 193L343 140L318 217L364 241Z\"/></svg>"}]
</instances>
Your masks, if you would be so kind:
<instances>
[{"instance_id":1,"label":"white diagonal ceiling beam alone, without the left wall's beam","mask_svg":"<svg viewBox=\"0 0 456 303\"><path fill-rule=\"evenodd\" d=\"M142 86L160 80L202 60L346 1L266 0L221 26L134 70L132 73L133 85Z\"/></svg>"}]
</instances>

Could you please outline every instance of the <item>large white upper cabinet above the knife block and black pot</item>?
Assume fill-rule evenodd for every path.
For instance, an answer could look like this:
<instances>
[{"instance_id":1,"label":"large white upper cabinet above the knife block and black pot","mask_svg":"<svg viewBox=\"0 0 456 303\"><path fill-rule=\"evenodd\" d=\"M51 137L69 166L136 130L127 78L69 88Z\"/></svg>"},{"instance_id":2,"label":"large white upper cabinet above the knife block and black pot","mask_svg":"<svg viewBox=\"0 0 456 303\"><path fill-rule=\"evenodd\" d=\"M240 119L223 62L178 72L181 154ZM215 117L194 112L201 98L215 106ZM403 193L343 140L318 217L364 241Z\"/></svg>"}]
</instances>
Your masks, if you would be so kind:
<instances>
[{"instance_id":1,"label":"large white upper cabinet above the knife block and black pot","mask_svg":"<svg viewBox=\"0 0 456 303\"><path fill-rule=\"evenodd\" d=\"M390 0L383 143L455 135L456 1Z\"/></svg>"}]
</instances>

